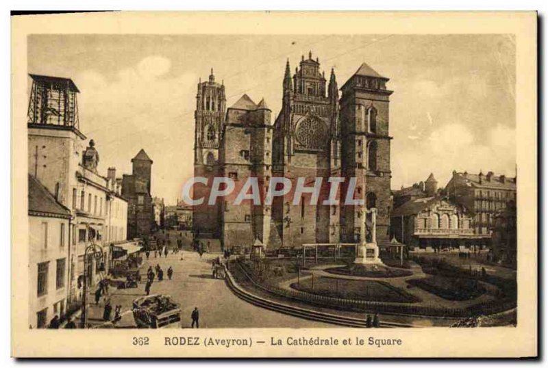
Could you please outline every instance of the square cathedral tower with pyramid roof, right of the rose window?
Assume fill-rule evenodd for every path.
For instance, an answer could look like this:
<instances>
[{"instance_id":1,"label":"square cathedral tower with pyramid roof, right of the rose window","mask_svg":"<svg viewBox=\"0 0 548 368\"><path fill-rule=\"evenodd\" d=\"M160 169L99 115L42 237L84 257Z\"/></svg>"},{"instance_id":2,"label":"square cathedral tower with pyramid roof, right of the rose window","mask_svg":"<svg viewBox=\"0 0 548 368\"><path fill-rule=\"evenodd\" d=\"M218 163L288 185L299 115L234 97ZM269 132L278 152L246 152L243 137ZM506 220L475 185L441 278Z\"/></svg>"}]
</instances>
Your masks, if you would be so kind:
<instances>
[{"instance_id":1,"label":"square cathedral tower with pyramid roof, right of the rose window","mask_svg":"<svg viewBox=\"0 0 548 368\"><path fill-rule=\"evenodd\" d=\"M389 241L390 225L390 140L388 135L388 78L362 64L343 85L340 99L342 172L356 177L354 198L363 200L367 209L377 209L377 242ZM348 183L345 183L345 191ZM345 206L341 213L341 238L360 239L363 205Z\"/></svg>"}]
</instances>

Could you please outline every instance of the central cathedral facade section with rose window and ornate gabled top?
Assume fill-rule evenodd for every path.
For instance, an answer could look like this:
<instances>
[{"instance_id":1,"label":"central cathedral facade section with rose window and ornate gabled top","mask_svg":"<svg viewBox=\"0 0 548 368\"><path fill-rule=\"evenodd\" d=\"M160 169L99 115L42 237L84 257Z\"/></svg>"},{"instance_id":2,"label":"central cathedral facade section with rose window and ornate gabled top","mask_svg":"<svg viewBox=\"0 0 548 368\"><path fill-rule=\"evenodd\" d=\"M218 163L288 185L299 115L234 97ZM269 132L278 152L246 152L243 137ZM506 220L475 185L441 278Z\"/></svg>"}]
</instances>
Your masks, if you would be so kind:
<instances>
[{"instance_id":1,"label":"central cathedral facade section with rose window and ornate gabled top","mask_svg":"<svg viewBox=\"0 0 548 368\"><path fill-rule=\"evenodd\" d=\"M306 186L316 177L327 179L339 167L338 92L332 70L329 90L318 58L301 58L291 77L289 61L283 81L283 102L275 121L273 176L292 180L306 178ZM327 93L326 93L327 92ZM326 95L327 94L327 95ZM336 174L335 174L336 175ZM338 241L338 212L321 205L329 192L321 191L318 205L310 205L310 194L293 202L292 194L273 202L273 228L269 244L299 246L305 243ZM334 215L330 215L334 214Z\"/></svg>"}]
</instances>

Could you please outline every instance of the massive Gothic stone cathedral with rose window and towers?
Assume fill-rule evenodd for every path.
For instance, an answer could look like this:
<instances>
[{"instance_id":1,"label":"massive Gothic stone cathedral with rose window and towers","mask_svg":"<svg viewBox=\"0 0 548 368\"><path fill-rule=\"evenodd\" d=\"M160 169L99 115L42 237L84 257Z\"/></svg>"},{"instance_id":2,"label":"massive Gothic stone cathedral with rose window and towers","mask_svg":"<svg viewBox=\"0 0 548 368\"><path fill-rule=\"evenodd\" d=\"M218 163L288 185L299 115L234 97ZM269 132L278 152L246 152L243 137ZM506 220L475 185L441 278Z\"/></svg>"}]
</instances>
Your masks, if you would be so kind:
<instances>
[{"instance_id":1,"label":"massive Gothic stone cathedral with rose window and towers","mask_svg":"<svg viewBox=\"0 0 548 368\"><path fill-rule=\"evenodd\" d=\"M312 53L301 57L293 74L288 60L282 109L272 122L264 99L255 103L244 94L226 107L225 86L215 81L212 70L208 81L198 84L195 111L194 176L206 177L208 184L194 185L193 197L210 198L214 178L219 177L232 179L235 193L253 178L262 196L269 191L271 177L287 178L293 188L297 180L307 187L318 178L322 181L316 202L306 190L277 196L271 203L206 200L193 207L195 235L219 239L225 249L356 243L363 207L375 207L377 242L388 242L392 91L386 89L387 81L364 63L339 89L334 69L327 81ZM333 181L340 184L335 189ZM340 200L324 204L332 189ZM347 202L342 197L349 189L353 198Z\"/></svg>"}]
</instances>

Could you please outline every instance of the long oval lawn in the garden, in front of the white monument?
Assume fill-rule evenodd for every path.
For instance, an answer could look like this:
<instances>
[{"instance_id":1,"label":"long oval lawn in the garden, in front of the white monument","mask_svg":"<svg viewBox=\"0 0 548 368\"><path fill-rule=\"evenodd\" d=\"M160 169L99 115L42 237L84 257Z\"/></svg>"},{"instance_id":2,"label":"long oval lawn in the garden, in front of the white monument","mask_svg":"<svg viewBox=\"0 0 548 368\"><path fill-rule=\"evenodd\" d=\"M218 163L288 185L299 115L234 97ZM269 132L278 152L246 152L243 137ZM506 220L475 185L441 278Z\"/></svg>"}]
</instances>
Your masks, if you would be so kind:
<instances>
[{"instance_id":1,"label":"long oval lawn in the garden, in front of the white monument","mask_svg":"<svg viewBox=\"0 0 548 368\"><path fill-rule=\"evenodd\" d=\"M388 282L373 280L345 280L342 278L314 277L291 284L296 290L334 298L369 300L373 302L413 303L420 300Z\"/></svg>"}]
</instances>

